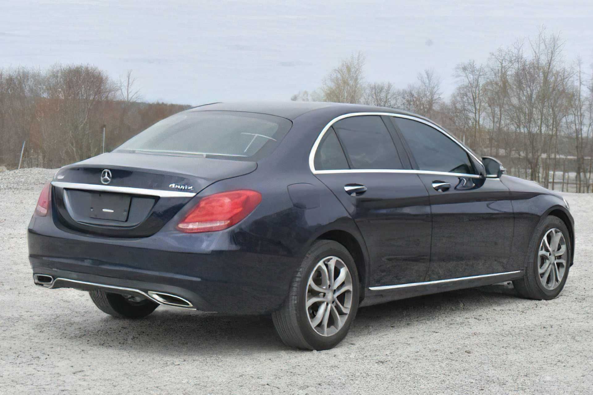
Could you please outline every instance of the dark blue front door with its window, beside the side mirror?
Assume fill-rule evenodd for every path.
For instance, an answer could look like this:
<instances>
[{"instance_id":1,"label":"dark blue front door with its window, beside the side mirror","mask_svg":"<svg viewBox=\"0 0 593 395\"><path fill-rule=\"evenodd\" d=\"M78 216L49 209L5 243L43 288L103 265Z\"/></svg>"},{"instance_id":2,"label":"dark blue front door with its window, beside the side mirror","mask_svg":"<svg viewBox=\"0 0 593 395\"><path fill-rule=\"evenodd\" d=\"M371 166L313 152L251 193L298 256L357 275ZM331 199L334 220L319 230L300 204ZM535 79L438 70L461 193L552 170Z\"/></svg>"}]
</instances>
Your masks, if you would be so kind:
<instances>
[{"instance_id":1,"label":"dark blue front door with its window, beside the side mirror","mask_svg":"<svg viewBox=\"0 0 593 395\"><path fill-rule=\"evenodd\" d=\"M498 178L480 178L470 153L441 131L403 117L391 120L430 195L427 281L511 271L514 219L508 188Z\"/></svg>"}]
</instances>

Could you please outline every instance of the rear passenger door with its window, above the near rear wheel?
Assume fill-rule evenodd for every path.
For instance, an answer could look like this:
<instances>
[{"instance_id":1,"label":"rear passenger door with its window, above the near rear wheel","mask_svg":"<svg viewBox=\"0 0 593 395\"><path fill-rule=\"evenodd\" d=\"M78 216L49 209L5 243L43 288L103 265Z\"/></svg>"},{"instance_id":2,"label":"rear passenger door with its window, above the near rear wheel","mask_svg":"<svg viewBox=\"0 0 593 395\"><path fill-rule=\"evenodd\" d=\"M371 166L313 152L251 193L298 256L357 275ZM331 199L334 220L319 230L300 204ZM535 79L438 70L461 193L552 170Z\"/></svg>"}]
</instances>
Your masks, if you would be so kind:
<instances>
[{"instance_id":1,"label":"rear passenger door with its window, above the near rear wheel","mask_svg":"<svg viewBox=\"0 0 593 395\"><path fill-rule=\"evenodd\" d=\"M428 193L406 173L409 160L394 137L378 115L348 117L324 133L314 156L314 174L365 238L371 287L423 281L429 266Z\"/></svg>"}]
</instances>

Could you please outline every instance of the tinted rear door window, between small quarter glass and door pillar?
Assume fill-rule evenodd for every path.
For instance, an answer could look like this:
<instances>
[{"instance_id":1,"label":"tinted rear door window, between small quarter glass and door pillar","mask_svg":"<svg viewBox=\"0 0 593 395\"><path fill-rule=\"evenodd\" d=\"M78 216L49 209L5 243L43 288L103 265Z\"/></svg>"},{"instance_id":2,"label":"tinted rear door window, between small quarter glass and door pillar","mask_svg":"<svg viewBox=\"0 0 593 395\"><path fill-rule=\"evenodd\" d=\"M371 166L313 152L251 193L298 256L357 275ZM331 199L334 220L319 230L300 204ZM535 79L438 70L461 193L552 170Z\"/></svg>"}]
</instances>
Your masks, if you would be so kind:
<instances>
[{"instance_id":1,"label":"tinted rear door window, between small quarter glass and door pillar","mask_svg":"<svg viewBox=\"0 0 593 395\"><path fill-rule=\"evenodd\" d=\"M333 124L353 169L401 169L391 135L380 117L350 117Z\"/></svg>"}]
</instances>

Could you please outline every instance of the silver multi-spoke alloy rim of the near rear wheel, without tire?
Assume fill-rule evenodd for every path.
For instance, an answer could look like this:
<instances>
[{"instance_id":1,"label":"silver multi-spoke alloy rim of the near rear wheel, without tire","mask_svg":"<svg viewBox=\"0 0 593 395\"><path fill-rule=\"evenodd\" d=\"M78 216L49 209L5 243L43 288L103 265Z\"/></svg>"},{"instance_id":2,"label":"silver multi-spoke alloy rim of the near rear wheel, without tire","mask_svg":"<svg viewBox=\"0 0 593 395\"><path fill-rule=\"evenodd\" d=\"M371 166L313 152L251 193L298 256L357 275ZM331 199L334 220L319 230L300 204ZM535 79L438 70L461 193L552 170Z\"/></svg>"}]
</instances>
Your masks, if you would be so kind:
<instances>
[{"instance_id":1,"label":"silver multi-spoke alloy rim of the near rear wheel, without tire","mask_svg":"<svg viewBox=\"0 0 593 395\"><path fill-rule=\"evenodd\" d=\"M309 276L305 300L315 332L331 336L340 330L352 307L352 276L342 259L327 256L317 262Z\"/></svg>"}]
</instances>

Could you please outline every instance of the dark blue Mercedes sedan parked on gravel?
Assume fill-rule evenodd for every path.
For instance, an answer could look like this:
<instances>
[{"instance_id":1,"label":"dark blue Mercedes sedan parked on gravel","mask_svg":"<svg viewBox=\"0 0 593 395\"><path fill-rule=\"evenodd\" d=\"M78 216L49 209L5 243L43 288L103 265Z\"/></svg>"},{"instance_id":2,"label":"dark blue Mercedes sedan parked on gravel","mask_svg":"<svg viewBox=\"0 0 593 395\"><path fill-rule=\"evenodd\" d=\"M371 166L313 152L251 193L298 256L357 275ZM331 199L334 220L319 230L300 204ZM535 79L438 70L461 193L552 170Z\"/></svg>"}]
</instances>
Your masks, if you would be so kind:
<instances>
[{"instance_id":1,"label":"dark blue Mercedes sedan parked on gravel","mask_svg":"<svg viewBox=\"0 0 593 395\"><path fill-rule=\"evenodd\" d=\"M204 105L59 169L29 259L35 284L113 316L272 314L286 345L328 349L360 306L510 280L562 291L568 203L503 171L404 111Z\"/></svg>"}]
</instances>

